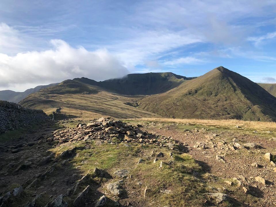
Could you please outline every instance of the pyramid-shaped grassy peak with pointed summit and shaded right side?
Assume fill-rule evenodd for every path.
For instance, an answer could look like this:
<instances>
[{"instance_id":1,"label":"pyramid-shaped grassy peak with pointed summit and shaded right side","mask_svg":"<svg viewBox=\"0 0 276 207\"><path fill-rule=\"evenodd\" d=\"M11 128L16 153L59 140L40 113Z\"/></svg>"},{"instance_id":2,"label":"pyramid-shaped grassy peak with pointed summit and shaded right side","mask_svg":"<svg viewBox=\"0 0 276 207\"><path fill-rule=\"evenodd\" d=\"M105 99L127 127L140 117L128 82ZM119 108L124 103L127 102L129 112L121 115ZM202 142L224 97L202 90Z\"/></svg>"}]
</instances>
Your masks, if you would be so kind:
<instances>
[{"instance_id":1,"label":"pyramid-shaped grassy peak with pointed summit and shaded right side","mask_svg":"<svg viewBox=\"0 0 276 207\"><path fill-rule=\"evenodd\" d=\"M167 117L276 120L276 98L222 66L138 104L138 108Z\"/></svg>"}]
</instances>

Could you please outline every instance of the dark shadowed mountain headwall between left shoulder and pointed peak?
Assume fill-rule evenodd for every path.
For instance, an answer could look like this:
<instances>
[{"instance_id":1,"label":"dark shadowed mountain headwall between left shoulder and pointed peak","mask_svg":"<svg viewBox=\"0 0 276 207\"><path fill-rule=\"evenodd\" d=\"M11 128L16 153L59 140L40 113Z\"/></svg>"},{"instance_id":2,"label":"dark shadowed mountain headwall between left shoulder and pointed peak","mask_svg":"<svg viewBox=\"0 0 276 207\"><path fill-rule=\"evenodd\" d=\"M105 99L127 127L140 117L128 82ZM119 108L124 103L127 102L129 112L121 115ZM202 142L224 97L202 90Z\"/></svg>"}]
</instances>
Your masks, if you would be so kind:
<instances>
[{"instance_id":1,"label":"dark shadowed mountain headwall between left shoulder and pointed peak","mask_svg":"<svg viewBox=\"0 0 276 207\"><path fill-rule=\"evenodd\" d=\"M128 74L122 78L109 79L106 81L94 81L88 78L74 78L74 81L96 85L110 92L124 95L152 95L163 93L179 86L187 78L171 72Z\"/></svg>"}]
</instances>

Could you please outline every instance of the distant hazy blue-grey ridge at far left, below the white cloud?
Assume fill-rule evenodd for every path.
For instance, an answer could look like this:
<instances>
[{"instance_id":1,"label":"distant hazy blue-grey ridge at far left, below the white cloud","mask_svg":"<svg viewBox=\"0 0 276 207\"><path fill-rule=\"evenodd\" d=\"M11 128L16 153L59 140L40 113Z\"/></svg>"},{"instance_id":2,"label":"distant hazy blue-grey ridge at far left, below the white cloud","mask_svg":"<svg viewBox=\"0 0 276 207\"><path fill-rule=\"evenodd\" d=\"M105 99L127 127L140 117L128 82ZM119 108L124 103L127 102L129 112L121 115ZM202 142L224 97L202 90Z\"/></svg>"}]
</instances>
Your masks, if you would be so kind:
<instances>
[{"instance_id":1,"label":"distant hazy blue-grey ridge at far left, below the white cloud","mask_svg":"<svg viewBox=\"0 0 276 207\"><path fill-rule=\"evenodd\" d=\"M30 95L31 93L35 93L37 91L40 91L43 88L55 86L57 84L58 83L51 83L49 85L40 85L35 88L27 89L24 92L16 92L11 90L0 91L0 100L18 103L19 101L21 101L22 99Z\"/></svg>"}]
</instances>

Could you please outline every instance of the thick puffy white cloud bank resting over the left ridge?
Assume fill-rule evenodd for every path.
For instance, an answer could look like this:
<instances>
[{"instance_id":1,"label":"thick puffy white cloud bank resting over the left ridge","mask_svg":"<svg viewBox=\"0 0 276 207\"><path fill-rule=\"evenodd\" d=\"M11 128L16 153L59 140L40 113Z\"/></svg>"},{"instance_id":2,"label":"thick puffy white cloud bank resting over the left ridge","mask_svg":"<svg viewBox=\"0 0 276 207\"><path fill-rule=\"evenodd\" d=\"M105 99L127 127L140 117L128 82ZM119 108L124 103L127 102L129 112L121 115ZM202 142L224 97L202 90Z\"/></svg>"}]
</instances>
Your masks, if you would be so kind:
<instances>
[{"instance_id":1,"label":"thick puffy white cloud bank resting over the left ridge","mask_svg":"<svg viewBox=\"0 0 276 207\"><path fill-rule=\"evenodd\" d=\"M87 51L62 40L51 40L53 49L9 56L0 53L0 87L60 82L85 76L96 81L129 73L106 49Z\"/></svg>"}]
</instances>

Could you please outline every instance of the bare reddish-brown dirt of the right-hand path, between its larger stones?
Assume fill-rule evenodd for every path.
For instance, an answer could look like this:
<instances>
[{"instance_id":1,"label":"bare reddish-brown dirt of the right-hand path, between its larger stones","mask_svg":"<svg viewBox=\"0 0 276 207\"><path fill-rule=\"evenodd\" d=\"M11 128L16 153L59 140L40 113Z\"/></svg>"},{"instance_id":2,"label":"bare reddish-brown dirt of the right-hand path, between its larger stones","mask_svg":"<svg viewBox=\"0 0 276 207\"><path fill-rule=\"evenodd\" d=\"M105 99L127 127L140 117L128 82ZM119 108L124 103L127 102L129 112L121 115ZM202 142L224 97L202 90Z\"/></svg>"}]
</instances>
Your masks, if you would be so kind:
<instances>
[{"instance_id":1,"label":"bare reddish-brown dirt of the right-hand path, between its larger stones","mask_svg":"<svg viewBox=\"0 0 276 207\"><path fill-rule=\"evenodd\" d=\"M160 129L161 128L161 129ZM225 141L225 144L235 142L243 145L244 143L256 143L260 145L259 149L236 149L221 150L219 147L202 147L194 148L197 142L210 141L208 137L212 137L217 131L199 130L195 131L182 131L177 126L151 126L147 129L151 133L157 133L163 136L171 136L174 140L183 142L188 148L188 154L197 160L203 169L221 179L232 179L238 176L244 176L248 182L248 191L253 197L260 198L260 202L254 203L248 201L246 204L249 206L276 206L276 173L273 171L273 166L264 160L264 154L271 152L275 154L276 142L268 138L263 138L258 135L245 135L235 131L219 131L219 134L212 138L214 142ZM206 138L207 137L207 138ZM206 140L207 139L207 140ZM216 155L223 157L225 163L216 160ZM251 166L256 162L260 167ZM266 185L256 182L255 177L260 176L266 180ZM225 183L225 188L229 185ZM239 189L242 193L243 189Z\"/></svg>"}]
</instances>

